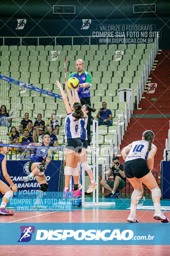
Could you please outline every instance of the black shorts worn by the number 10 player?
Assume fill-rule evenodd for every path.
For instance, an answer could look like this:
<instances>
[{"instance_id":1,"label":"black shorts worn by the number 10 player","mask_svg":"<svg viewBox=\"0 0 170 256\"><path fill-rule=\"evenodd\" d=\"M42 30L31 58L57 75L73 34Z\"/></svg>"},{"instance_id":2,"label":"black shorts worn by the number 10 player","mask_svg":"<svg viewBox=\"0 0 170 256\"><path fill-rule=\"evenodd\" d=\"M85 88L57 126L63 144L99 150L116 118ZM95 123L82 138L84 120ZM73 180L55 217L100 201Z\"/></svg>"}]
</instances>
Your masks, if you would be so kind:
<instances>
[{"instance_id":1,"label":"black shorts worn by the number 10 player","mask_svg":"<svg viewBox=\"0 0 170 256\"><path fill-rule=\"evenodd\" d=\"M124 172L127 178L142 178L150 172L147 162L143 158L129 160L124 164Z\"/></svg>"}]
</instances>

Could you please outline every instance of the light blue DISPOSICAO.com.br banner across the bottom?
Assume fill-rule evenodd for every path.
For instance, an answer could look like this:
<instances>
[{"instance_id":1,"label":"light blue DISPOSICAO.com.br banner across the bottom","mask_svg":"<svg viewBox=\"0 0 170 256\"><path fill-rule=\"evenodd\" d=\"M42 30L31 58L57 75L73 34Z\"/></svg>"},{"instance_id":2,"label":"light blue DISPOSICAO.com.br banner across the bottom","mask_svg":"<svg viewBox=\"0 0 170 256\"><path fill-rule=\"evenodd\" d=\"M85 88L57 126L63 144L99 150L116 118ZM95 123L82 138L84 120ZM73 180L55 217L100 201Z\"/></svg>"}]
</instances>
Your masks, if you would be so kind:
<instances>
[{"instance_id":1,"label":"light blue DISPOSICAO.com.br banner across the bottom","mask_svg":"<svg viewBox=\"0 0 170 256\"><path fill-rule=\"evenodd\" d=\"M162 223L2 223L0 244L169 245L169 227Z\"/></svg>"}]
</instances>

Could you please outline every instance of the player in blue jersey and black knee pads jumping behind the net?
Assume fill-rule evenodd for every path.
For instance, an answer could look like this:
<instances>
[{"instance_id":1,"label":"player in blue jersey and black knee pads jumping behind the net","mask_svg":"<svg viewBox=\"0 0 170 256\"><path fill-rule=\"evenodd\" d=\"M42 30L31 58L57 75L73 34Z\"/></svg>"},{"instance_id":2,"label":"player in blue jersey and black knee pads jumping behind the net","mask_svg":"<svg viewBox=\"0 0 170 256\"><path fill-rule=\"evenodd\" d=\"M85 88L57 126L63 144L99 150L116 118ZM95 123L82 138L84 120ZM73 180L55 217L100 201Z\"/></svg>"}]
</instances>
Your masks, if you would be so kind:
<instances>
[{"instance_id":1,"label":"player in blue jersey and black knee pads jumping behind the net","mask_svg":"<svg viewBox=\"0 0 170 256\"><path fill-rule=\"evenodd\" d=\"M51 161L49 157L51 154L51 150L45 147L48 147L50 142L50 135L48 133L45 133L42 138L42 143L29 144L31 146L42 146L44 148L34 149L34 154L30 157L31 161L28 167L30 174L26 177L23 177L24 182L27 182L35 176L37 182L40 184L40 191L42 192L48 191L48 184L44 172Z\"/></svg>"}]
</instances>

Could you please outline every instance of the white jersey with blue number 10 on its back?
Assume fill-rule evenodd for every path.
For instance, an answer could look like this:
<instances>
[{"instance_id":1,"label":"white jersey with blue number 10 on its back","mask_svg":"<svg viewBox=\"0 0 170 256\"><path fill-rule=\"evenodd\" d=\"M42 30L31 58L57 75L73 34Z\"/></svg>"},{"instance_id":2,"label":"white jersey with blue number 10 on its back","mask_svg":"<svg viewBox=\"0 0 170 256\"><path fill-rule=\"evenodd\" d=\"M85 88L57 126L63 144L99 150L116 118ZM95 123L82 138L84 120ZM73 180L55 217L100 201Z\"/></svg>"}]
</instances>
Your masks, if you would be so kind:
<instances>
[{"instance_id":1,"label":"white jersey with blue number 10 on its back","mask_svg":"<svg viewBox=\"0 0 170 256\"><path fill-rule=\"evenodd\" d=\"M147 160L148 155L148 145L149 142L147 140L137 140L133 141L132 146L130 148L130 152L127 155L125 162L130 161L137 158L143 158L144 160ZM151 149L156 148L156 145L152 143Z\"/></svg>"}]
</instances>

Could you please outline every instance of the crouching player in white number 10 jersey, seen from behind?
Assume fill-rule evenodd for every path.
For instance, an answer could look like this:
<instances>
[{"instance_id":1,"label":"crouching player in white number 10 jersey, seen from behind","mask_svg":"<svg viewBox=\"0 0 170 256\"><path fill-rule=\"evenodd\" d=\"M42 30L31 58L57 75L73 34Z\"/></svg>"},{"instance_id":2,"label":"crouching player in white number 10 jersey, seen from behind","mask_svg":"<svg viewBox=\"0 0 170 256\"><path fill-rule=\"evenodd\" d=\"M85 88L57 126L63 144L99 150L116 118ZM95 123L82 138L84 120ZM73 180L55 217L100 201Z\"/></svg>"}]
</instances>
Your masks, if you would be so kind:
<instances>
[{"instance_id":1,"label":"crouching player in white number 10 jersey, seen from behind","mask_svg":"<svg viewBox=\"0 0 170 256\"><path fill-rule=\"evenodd\" d=\"M136 207L142 198L142 183L151 191L155 208L153 218L161 222L169 222L168 218L161 212L161 190L151 173L153 170L154 156L157 151L156 146L152 143L153 139L153 131L144 131L142 140L133 141L133 143L127 145L122 150L122 157L125 160L125 175L134 189L131 195L130 214L127 218L129 222L139 222L136 218Z\"/></svg>"}]
</instances>

